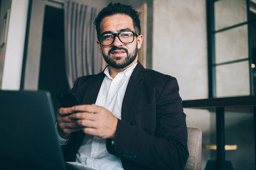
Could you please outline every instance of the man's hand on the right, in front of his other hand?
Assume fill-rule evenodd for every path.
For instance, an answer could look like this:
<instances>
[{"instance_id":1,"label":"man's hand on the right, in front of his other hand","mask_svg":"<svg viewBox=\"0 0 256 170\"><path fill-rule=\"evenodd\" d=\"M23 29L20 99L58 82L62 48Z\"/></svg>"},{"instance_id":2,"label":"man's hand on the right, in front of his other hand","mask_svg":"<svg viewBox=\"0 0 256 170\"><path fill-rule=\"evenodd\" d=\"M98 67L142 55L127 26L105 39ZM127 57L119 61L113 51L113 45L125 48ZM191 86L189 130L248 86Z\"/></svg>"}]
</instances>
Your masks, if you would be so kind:
<instances>
[{"instance_id":1,"label":"man's hand on the right, in front of his other hand","mask_svg":"<svg viewBox=\"0 0 256 170\"><path fill-rule=\"evenodd\" d=\"M83 132L104 139L114 138L117 118L106 108L92 104L74 106L72 110L76 113L70 115L70 119L82 127Z\"/></svg>"}]
</instances>

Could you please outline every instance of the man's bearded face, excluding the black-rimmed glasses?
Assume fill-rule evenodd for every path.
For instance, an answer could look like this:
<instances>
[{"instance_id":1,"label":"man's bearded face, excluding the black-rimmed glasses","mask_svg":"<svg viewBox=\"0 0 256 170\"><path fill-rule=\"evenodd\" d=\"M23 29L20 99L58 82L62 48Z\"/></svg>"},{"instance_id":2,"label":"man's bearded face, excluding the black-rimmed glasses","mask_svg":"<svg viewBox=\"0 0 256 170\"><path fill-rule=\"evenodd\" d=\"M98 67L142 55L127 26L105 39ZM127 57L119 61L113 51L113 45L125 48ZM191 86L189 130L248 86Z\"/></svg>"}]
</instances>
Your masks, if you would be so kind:
<instances>
[{"instance_id":1,"label":"man's bearded face, excluding the black-rimmed glasses","mask_svg":"<svg viewBox=\"0 0 256 170\"><path fill-rule=\"evenodd\" d=\"M100 23L100 34L119 33L124 30L135 30L132 18L124 14L115 14L102 19ZM134 36L132 43L123 43L115 37L112 45L102 46L97 41L105 61L110 67L123 69L137 62L137 50L142 46L143 36Z\"/></svg>"}]
</instances>

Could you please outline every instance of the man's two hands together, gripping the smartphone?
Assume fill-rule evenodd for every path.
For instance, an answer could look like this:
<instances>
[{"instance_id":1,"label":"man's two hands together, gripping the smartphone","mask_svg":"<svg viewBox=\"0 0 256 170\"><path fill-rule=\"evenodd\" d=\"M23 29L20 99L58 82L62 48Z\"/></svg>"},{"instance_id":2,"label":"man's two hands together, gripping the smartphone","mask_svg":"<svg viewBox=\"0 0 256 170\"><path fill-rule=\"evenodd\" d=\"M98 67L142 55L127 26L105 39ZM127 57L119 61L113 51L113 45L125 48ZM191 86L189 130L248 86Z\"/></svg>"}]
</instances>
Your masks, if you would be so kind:
<instances>
[{"instance_id":1,"label":"man's two hands together, gripping the smartphone","mask_svg":"<svg viewBox=\"0 0 256 170\"><path fill-rule=\"evenodd\" d=\"M88 135L114 138L117 130L117 118L106 108L95 104L60 108L57 120L58 132L63 138L81 129Z\"/></svg>"}]
</instances>

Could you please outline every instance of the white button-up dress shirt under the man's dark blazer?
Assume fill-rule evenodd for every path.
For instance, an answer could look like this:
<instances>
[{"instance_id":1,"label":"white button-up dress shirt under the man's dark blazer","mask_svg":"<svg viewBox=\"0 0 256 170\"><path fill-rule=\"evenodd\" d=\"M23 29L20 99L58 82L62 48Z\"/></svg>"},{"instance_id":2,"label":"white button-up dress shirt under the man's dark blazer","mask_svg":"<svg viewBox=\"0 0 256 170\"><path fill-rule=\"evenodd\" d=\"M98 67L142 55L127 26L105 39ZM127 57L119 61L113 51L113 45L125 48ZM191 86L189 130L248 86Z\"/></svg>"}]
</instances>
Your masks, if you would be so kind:
<instances>
[{"instance_id":1,"label":"white button-up dress shirt under the man's dark blazer","mask_svg":"<svg viewBox=\"0 0 256 170\"><path fill-rule=\"evenodd\" d=\"M100 86L95 104L107 108L107 110L113 113L119 120L121 120L124 93L136 65L137 64L132 65L132 67L124 70L124 72L119 72L114 79L110 77L109 67L107 67L104 72L106 76ZM64 140L60 136L59 141L62 145L68 142L68 140ZM76 154L75 162L92 169L123 169L121 159L107 152L105 143L106 140L101 137L85 135L82 145Z\"/></svg>"}]
</instances>

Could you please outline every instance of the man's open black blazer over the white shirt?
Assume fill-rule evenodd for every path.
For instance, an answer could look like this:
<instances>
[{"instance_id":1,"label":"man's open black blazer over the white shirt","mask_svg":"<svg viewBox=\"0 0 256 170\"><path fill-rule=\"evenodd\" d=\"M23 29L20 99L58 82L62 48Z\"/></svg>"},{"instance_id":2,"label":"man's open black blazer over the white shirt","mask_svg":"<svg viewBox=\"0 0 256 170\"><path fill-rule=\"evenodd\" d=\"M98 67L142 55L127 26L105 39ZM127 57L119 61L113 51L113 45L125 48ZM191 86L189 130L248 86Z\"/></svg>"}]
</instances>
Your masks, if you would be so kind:
<instances>
[{"instance_id":1,"label":"man's open black blazer over the white shirt","mask_svg":"<svg viewBox=\"0 0 256 170\"><path fill-rule=\"evenodd\" d=\"M95 103L104 78L103 72L80 77L72 91L83 104ZM66 161L75 161L84 135L71 134L63 146ZM183 169L188 159L186 115L176 79L138 62L124 94L114 142L107 140L106 146L122 159L124 169Z\"/></svg>"}]
</instances>

